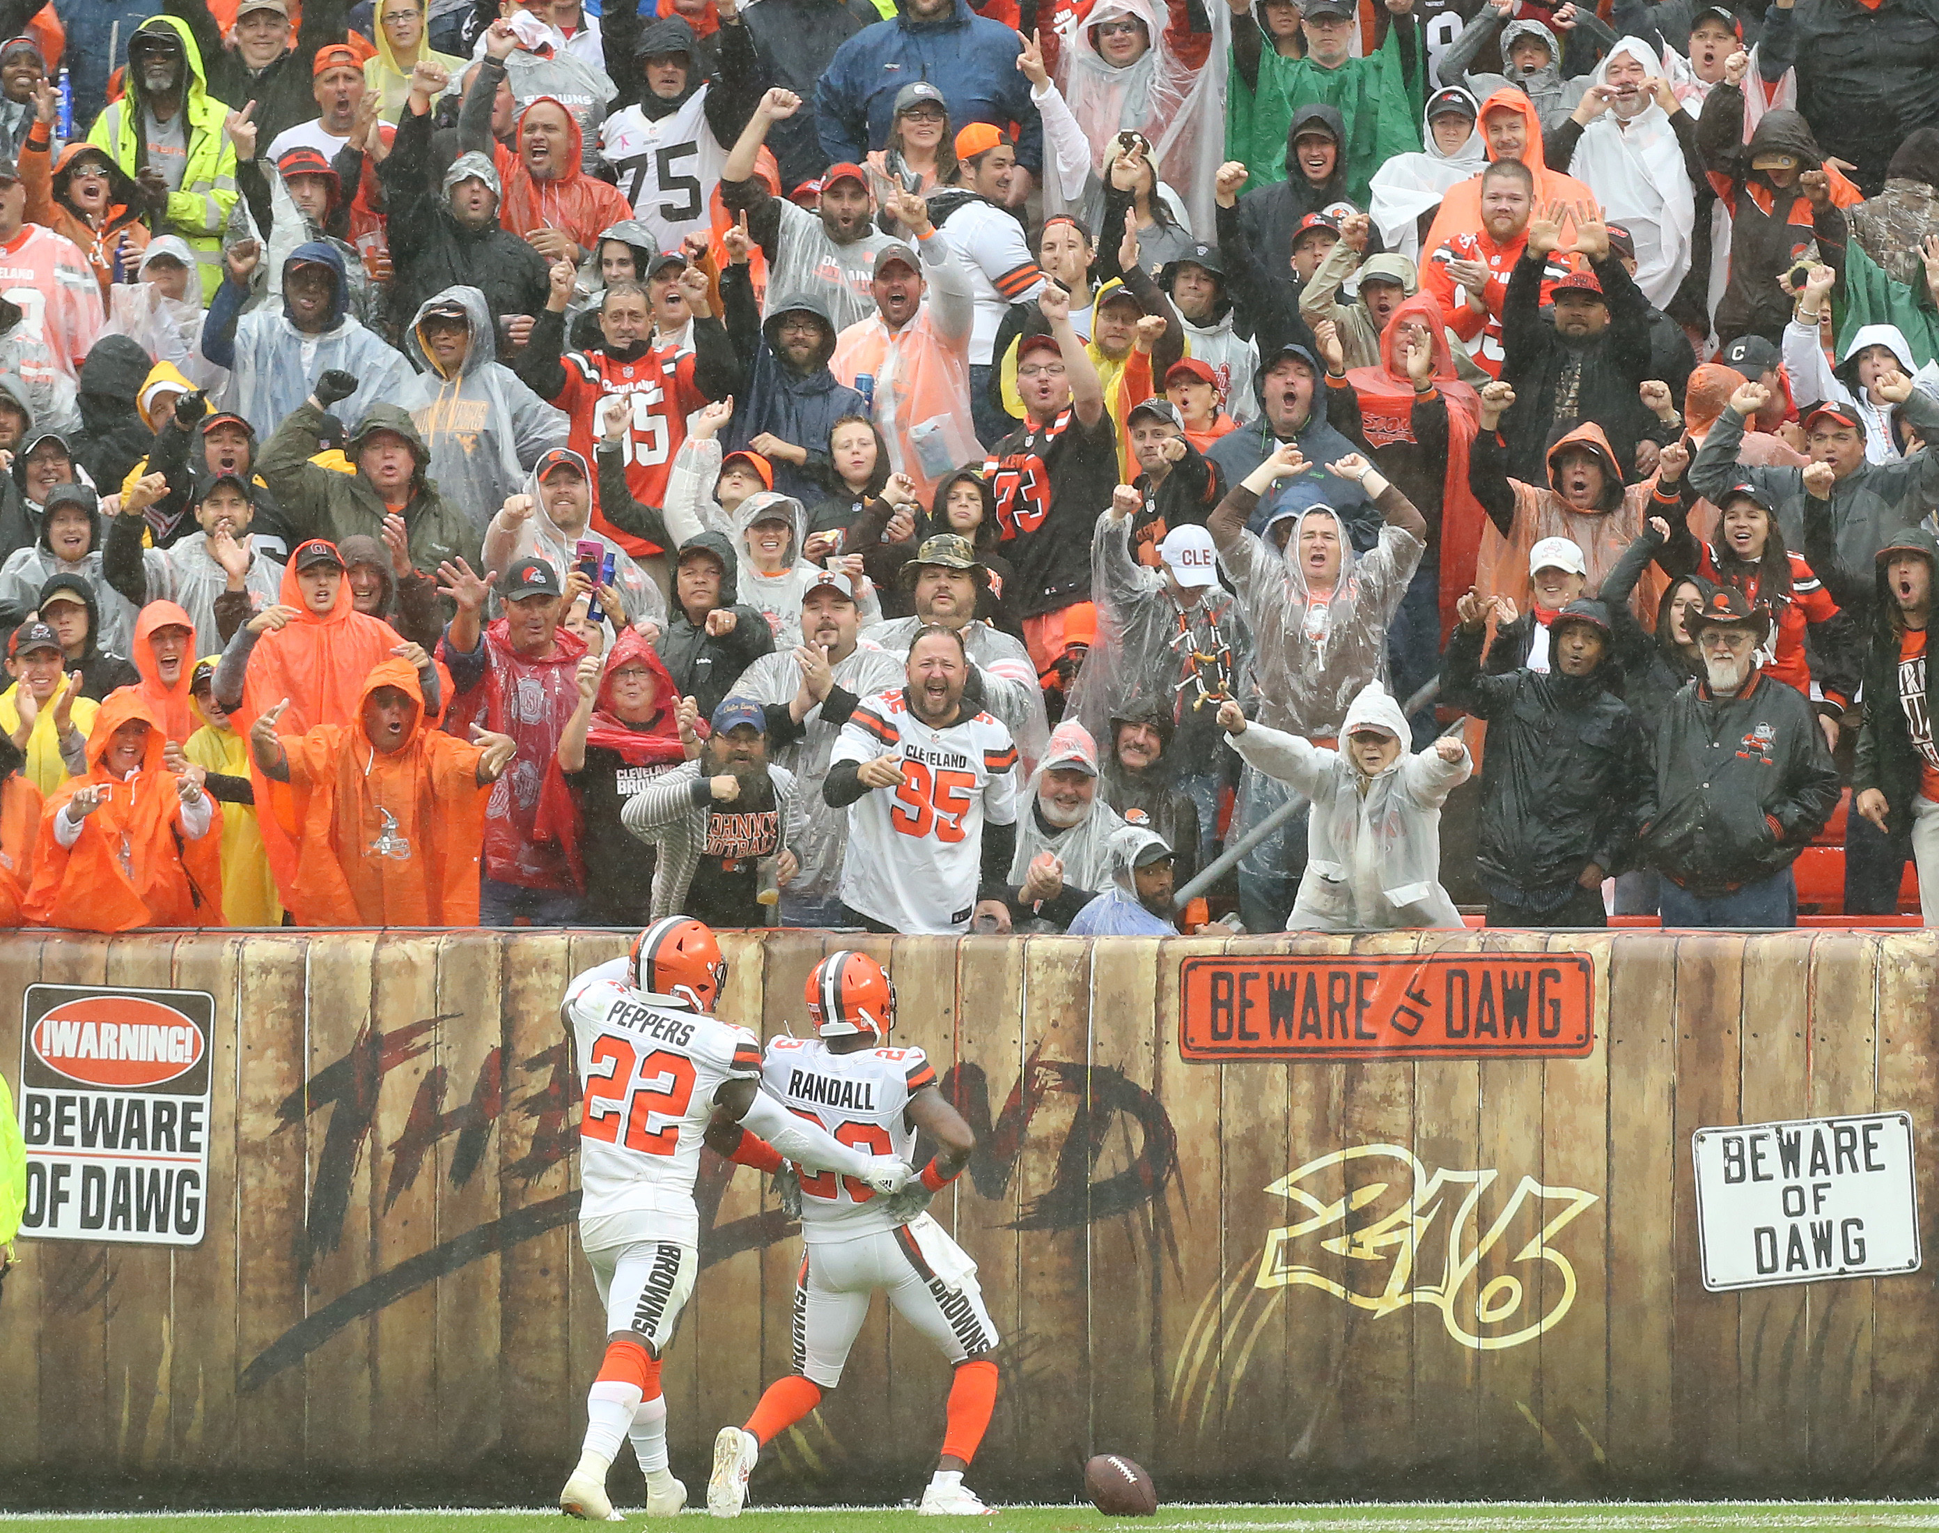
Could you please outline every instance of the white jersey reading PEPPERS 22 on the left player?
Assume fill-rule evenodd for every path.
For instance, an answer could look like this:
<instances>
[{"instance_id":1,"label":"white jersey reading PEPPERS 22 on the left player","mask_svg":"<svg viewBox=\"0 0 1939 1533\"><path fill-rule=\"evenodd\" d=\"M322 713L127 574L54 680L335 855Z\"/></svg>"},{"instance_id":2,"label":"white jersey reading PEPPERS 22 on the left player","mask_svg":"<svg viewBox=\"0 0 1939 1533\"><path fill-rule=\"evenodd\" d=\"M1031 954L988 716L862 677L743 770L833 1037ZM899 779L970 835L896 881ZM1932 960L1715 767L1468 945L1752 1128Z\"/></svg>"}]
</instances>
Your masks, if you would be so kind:
<instances>
[{"instance_id":1,"label":"white jersey reading PEPPERS 22 on the left player","mask_svg":"<svg viewBox=\"0 0 1939 1533\"><path fill-rule=\"evenodd\" d=\"M586 1094L580 1226L588 1248L620 1240L692 1246L700 1240L694 1176L714 1093L727 1081L760 1079L760 1040L632 990L622 982L624 962L591 968L566 990Z\"/></svg>"}]
</instances>

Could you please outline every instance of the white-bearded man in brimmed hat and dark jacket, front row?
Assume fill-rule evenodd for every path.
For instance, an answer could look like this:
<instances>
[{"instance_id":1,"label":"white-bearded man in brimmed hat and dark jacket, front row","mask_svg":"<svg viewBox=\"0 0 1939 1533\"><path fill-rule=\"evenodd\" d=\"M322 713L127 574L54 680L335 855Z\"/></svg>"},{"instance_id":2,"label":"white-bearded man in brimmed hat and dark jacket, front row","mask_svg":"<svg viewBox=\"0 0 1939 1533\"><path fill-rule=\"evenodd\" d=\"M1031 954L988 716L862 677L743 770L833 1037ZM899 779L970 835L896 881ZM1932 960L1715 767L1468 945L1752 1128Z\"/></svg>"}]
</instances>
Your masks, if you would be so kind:
<instances>
[{"instance_id":1,"label":"white-bearded man in brimmed hat and dark jacket, front row","mask_svg":"<svg viewBox=\"0 0 1939 1533\"><path fill-rule=\"evenodd\" d=\"M1757 666L1764 607L1724 586L1685 625L1704 673L1664 710L1642 827L1664 926L1797 926L1792 862L1838 805L1838 770L1809 699Z\"/></svg>"}]
</instances>

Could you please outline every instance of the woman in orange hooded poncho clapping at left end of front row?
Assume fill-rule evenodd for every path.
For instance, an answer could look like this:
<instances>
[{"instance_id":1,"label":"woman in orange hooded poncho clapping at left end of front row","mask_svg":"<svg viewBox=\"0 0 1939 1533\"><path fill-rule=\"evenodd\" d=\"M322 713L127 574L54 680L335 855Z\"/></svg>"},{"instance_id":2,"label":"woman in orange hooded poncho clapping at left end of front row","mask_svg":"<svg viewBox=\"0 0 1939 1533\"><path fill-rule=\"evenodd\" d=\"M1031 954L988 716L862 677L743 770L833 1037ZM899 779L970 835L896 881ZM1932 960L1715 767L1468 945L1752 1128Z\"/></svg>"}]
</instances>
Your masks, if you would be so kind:
<instances>
[{"instance_id":1,"label":"woman in orange hooded poncho clapping at left end of front row","mask_svg":"<svg viewBox=\"0 0 1939 1533\"><path fill-rule=\"evenodd\" d=\"M161 718L136 687L109 693L87 776L41 811L27 920L70 931L223 926L221 805L200 766L163 765Z\"/></svg>"}]
</instances>

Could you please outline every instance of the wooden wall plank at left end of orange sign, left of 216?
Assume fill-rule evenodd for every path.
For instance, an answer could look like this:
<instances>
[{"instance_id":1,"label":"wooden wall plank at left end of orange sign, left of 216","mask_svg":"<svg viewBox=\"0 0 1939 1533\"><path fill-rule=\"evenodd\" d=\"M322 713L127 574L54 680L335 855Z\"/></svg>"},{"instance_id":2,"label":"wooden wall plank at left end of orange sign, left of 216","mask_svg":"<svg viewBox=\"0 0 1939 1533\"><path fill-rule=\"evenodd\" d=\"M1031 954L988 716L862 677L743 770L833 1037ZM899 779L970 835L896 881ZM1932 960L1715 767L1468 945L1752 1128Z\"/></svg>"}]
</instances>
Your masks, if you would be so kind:
<instances>
[{"instance_id":1,"label":"wooden wall plank at left end of orange sign, left of 216","mask_svg":"<svg viewBox=\"0 0 1939 1533\"><path fill-rule=\"evenodd\" d=\"M1262 947L1272 939L1253 939ZM1179 1054L1179 970L1185 959L1227 951L1218 937L1167 939L1158 961L1158 1040L1152 1052L1152 1094L1163 1104L1179 1143L1171 1246L1160 1267L1158 1335L1163 1411L1152 1461L1146 1467L1167 1494L1171 1483L1204 1483L1231 1453L1224 1444L1225 1314L1251 1292L1256 1267L1225 1271L1220 1065L1185 1063ZM1282 1172L1284 1176L1284 1172ZM1260 1224L1286 1223L1289 1205L1260 1199ZM1264 1228L1251 1232L1264 1240ZM1256 1246L1255 1246L1256 1254ZM1233 1298L1227 1298L1227 1292ZM1256 1304L1289 1306L1286 1292L1260 1292ZM1229 1349L1237 1356L1237 1349Z\"/></svg>"}]
</instances>

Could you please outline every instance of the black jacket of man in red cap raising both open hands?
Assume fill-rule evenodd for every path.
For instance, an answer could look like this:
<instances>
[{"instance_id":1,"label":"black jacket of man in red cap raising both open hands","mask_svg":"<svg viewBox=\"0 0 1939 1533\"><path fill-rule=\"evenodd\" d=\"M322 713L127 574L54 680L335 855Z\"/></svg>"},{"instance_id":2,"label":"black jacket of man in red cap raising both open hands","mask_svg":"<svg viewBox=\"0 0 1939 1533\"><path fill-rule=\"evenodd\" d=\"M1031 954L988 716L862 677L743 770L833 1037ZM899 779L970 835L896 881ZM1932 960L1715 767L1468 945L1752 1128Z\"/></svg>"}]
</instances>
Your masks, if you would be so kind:
<instances>
[{"instance_id":1,"label":"black jacket of man in red cap raising both open hands","mask_svg":"<svg viewBox=\"0 0 1939 1533\"><path fill-rule=\"evenodd\" d=\"M1514 386L1514 406L1501 421L1509 477L1545 485L1557 431L1596 421L1629 479L1637 470L1637 440L1662 429L1637 398L1650 376L1650 305L1623 262L1615 256L1594 262L1609 322L1588 345L1573 345L1542 318L1543 268L1543 260L1526 254L1514 262L1501 305L1501 378Z\"/></svg>"}]
</instances>

